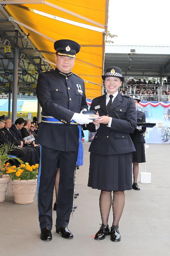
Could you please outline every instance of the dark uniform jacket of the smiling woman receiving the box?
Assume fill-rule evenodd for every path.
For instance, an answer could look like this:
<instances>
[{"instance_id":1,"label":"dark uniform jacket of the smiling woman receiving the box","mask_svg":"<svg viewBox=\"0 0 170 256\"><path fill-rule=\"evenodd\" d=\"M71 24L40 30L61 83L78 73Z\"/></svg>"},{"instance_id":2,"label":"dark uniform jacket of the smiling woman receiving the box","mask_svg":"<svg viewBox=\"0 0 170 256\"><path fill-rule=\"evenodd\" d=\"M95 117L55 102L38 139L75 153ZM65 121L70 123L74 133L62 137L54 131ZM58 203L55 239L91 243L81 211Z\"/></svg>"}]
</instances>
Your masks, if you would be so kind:
<instances>
[{"instance_id":1,"label":"dark uniform jacket of the smiling woman receiving the box","mask_svg":"<svg viewBox=\"0 0 170 256\"><path fill-rule=\"evenodd\" d=\"M107 124L100 124L91 142L89 152L117 155L136 151L129 136L129 132L133 132L136 128L136 107L133 98L118 93L108 112L105 94L92 101L90 110L95 110L99 116L112 117L112 123L111 127L108 127ZM90 132L96 131L93 123L88 124L87 128Z\"/></svg>"}]
</instances>

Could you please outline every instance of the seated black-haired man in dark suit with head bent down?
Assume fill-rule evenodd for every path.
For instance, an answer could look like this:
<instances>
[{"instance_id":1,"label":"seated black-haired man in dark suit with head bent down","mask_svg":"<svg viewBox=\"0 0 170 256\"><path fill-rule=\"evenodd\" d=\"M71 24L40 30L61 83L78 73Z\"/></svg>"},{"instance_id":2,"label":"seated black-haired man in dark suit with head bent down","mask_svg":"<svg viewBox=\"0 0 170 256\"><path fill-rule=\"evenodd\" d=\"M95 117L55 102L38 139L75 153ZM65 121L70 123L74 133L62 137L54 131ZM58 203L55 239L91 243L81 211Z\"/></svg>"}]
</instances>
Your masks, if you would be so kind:
<instances>
[{"instance_id":1,"label":"seated black-haired man in dark suit with head bent down","mask_svg":"<svg viewBox=\"0 0 170 256\"><path fill-rule=\"evenodd\" d=\"M21 134L21 129L24 126L25 120L21 117L19 117L16 121L15 124L13 124L10 128L10 132L14 135L15 138L18 140L23 141L24 147L30 148L33 151L33 156L35 157L35 164L39 163L39 150L38 147L34 147L29 145L30 142L28 140L24 140Z\"/></svg>"}]
</instances>

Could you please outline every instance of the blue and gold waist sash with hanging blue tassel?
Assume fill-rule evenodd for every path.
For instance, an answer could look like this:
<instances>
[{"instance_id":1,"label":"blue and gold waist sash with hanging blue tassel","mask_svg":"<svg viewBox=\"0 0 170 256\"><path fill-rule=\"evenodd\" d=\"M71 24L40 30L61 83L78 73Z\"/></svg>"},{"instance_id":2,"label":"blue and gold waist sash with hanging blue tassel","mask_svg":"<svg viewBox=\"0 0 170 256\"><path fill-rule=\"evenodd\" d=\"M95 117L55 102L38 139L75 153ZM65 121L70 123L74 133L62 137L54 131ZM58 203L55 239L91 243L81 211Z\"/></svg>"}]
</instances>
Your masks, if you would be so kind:
<instances>
[{"instance_id":1,"label":"blue and gold waist sash with hanging blue tassel","mask_svg":"<svg viewBox=\"0 0 170 256\"><path fill-rule=\"evenodd\" d=\"M41 122L48 123L48 124L65 124L64 122L61 122L60 120L54 118L53 116L42 116ZM81 166L83 165L83 145L81 142L81 125L77 124L74 120L70 122L70 124L76 124L79 128L79 149L78 149L78 155L77 155L77 165Z\"/></svg>"}]
</instances>

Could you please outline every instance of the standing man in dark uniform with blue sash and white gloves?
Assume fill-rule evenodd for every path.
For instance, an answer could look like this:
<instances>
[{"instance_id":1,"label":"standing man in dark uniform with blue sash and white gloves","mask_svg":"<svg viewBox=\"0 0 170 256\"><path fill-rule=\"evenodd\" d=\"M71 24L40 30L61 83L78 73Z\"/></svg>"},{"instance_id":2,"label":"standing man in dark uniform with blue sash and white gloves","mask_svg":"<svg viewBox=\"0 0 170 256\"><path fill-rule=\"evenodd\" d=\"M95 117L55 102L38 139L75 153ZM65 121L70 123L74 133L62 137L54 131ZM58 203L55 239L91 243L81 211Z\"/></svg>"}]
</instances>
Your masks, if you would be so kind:
<instances>
[{"instance_id":1,"label":"standing man in dark uniform with blue sash and white gloves","mask_svg":"<svg viewBox=\"0 0 170 256\"><path fill-rule=\"evenodd\" d=\"M72 40L58 40L54 49L57 68L39 74L36 90L42 107L36 139L41 145L37 196L42 240L52 239L53 190L59 162L56 232L64 238L73 238L67 225L72 210L79 144L77 124L92 122L82 114L88 109L84 81L71 72L80 45Z\"/></svg>"}]
</instances>

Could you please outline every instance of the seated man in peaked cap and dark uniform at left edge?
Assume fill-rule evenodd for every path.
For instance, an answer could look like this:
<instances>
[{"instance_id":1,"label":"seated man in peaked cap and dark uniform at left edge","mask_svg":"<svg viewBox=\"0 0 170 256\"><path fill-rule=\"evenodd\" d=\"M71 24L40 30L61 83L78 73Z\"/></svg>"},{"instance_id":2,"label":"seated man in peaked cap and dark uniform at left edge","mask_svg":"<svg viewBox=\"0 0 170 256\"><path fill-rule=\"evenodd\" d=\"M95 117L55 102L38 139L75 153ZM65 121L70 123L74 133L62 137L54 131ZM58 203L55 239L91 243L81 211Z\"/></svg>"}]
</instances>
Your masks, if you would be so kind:
<instances>
[{"instance_id":1,"label":"seated man in peaked cap and dark uniform at left edge","mask_svg":"<svg viewBox=\"0 0 170 256\"><path fill-rule=\"evenodd\" d=\"M2 131L2 129L5 126L5 116L0 116L0 144L4 145L5 143L10 145L11 147L14 147L14 149L11 149L10 154L13 156L19 157L24 163L26 162L26 153L21 148L15 146L8 140L8 136L5 134L5 132ZM16 163L17 164L17 163Z\"/></svg>"}]
</instances>

